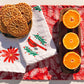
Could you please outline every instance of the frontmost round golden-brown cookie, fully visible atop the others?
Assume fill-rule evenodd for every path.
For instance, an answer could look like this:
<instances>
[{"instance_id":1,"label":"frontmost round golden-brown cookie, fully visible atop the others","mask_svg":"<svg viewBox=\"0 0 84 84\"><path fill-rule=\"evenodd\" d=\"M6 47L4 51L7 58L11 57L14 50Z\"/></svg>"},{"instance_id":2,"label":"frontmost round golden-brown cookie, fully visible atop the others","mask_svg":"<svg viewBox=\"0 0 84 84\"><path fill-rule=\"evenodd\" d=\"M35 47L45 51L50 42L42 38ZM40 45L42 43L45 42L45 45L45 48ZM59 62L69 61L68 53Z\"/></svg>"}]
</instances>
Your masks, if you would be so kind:
<instances>
[{"instance_id":1,"label":"frontmost round golden-brown cookie, fully visible atop the others","mask_svg":"<svg viewBox=\"0 0 84 84\"><path fill-rule=\"evenodd\" d=\"M23 17L13 17L7 26L9 34L15 37L23 37L29 33L27 21Z\"/></svg>"}]
</instances>

